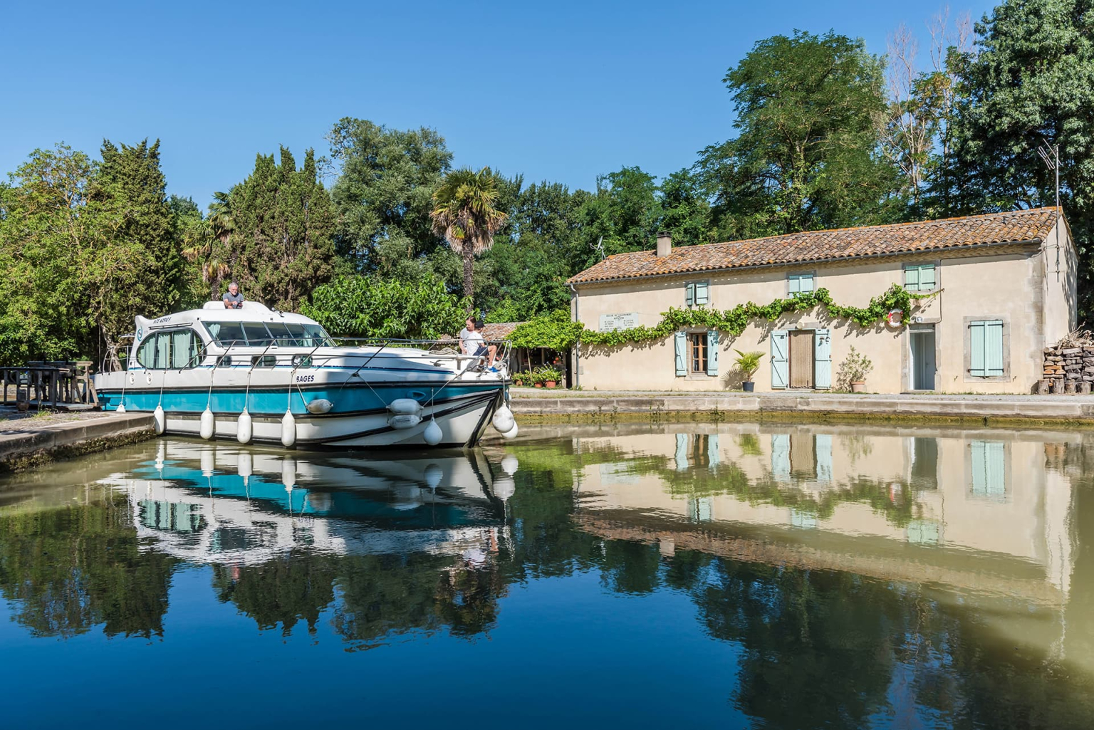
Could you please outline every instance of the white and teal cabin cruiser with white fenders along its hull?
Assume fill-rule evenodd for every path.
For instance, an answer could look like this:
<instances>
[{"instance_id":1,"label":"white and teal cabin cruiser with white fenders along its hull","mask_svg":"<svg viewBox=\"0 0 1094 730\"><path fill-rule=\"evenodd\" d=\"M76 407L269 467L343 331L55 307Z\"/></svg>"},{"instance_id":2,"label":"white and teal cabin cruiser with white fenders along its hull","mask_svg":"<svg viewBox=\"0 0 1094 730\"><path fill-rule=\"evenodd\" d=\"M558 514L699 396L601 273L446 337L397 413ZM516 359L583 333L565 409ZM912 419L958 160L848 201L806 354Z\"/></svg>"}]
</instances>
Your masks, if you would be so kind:
<instances>
[{"instance_id":1,"label":"white and teal cabin cruiser with white fenders along its hull","mask_svg":"<svg viewBox=\"0 0 1094 730\"><path fill-rule=\"evenodd\" d=\"M516 434L505 358L489 369L451 340L336 339L258 302L135 324L95 392L104 410L152 413L158 433L347 449L470 448L491 424Z\"/></svg>"}]
</instances>

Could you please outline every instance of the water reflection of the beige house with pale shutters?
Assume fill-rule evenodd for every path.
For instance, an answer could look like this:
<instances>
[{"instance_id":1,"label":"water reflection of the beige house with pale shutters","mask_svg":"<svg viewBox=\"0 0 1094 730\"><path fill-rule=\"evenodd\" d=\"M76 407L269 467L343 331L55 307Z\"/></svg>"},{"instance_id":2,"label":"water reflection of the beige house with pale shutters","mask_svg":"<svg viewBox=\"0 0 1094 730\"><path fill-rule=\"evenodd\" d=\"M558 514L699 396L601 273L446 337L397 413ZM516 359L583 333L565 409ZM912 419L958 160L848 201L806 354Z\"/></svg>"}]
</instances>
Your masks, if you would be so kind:
<instances>
[{"instance_id":1,"label":"water reflection of the beige house with pale shutters","mask_svg":"<svg viewBox=\"0 0 1094 730\"><path fill-rule=\"evenodd\" d=\"M833 426L664 427L582 438L578 519L605 537L850 570L1057 603L1069 590L1071 486L1046 468L1066 433ZM677 432L672 432L677 431Z\"/></svg>"}]
</instances>

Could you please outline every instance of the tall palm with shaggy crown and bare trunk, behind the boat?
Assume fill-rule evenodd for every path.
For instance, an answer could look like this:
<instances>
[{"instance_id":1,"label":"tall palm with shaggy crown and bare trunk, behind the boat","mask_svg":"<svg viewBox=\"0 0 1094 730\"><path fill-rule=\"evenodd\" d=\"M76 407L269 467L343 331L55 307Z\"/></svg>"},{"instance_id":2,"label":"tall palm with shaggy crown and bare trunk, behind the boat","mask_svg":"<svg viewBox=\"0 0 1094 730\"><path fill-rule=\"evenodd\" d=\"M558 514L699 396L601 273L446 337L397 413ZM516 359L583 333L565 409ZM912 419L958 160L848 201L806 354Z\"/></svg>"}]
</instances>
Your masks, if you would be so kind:
<instances>
[{"instance_id":1,"label":"tall palm with shaggy crown and bare trunk, behind the boat","mask_svg":"<svg viewBox=\"0 0 1094 730\"><path fill-rule=\"evenodd\" d=\"M472 301L475 255L489 251L508 216L498 210L498 179L489 167L453 170L433 194L433 231L464 259L464 297Z\"/></svg>"}]
</instances>

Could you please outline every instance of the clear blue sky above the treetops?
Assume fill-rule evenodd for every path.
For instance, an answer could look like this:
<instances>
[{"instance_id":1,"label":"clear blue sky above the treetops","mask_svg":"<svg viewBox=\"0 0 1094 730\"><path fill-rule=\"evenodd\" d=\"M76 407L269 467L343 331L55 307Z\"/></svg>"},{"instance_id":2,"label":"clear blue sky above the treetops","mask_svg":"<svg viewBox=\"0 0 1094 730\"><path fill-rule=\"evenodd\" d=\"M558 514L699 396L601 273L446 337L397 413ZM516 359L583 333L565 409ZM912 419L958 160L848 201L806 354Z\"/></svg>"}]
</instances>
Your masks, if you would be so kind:
<instances>
[{"instance_id":1,"label":"clear blue sky above the treetops","mask_svg":"<svg viewBox=\"0 0 1094 730\"><path fill-rule=\"evenodd\" d=\"M159 137L168 192L205 208L257 152L325 154L330 126L356 116L434 127L457 165L589 189L622 165L666 175L731 137L721 80L755 40L835 28L884 53L904 22L926 56L944 4L10 2L0 173L61 140L97 154L104 137Z\"/></svg>"}]
</instances>

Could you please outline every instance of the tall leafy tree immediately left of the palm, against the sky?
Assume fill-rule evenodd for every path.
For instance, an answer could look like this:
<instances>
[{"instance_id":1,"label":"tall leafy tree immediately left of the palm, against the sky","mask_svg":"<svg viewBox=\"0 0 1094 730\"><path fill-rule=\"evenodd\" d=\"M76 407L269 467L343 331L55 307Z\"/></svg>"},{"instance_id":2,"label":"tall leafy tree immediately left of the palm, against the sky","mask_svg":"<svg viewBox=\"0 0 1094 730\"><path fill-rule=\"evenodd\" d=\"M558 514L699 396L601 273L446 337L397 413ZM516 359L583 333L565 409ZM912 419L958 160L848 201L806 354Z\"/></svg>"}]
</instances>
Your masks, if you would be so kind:
<instances>
[{"instance_id":1,"label":"tall leafy tree immediately left of the palm, against the sky","mask_svg":"<svg viewBox=\"0 0 1094 730\"><path fill-rule=\"evenodd\" d=\"M341 220L339 253L361 270L386 273L441 244L430 212L452 152L437 130L389 129L346 117L327 141L331 160L341 165L331 189Z\"/></svg>"}]
</instances>

